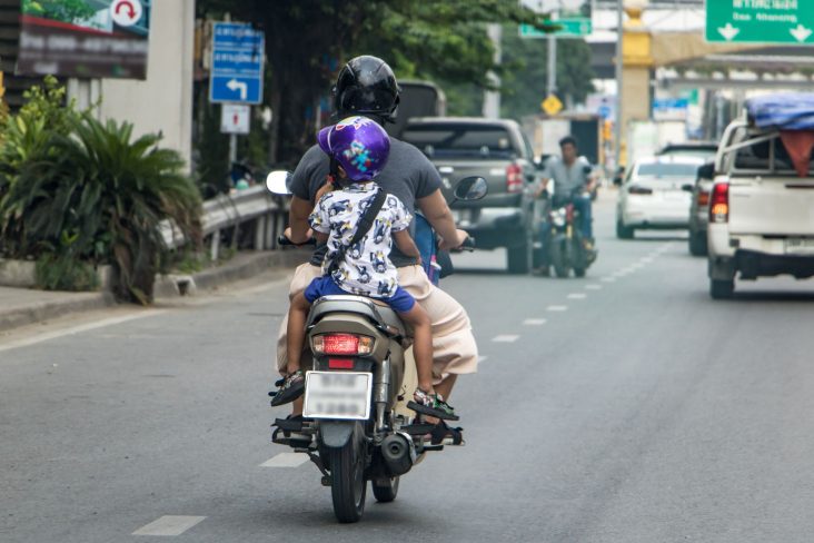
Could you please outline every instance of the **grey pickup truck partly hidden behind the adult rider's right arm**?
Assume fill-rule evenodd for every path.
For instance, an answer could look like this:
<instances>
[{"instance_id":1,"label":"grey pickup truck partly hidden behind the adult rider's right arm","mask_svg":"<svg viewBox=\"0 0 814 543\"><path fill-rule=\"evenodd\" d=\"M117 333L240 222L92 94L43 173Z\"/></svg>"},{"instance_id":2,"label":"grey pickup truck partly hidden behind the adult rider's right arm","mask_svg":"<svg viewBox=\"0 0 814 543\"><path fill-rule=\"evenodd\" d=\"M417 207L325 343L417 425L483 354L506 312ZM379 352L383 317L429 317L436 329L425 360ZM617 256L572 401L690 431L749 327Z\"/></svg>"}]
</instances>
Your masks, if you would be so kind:
<instances>
[{"instance_id":1,"label":"grey pickup truck partly hidden behind the adult rider's right arm","mask_svg":"<svg viewBox=\"0 0 814 543\"><path fill-rule=\"evenodd\" d=\"M410 119L401 139L438 168L448 200L458 180L486 178L485 198L453 201L456 223L476 239L478 249L505 247L509 273L528 273L533 201L525 188L536 180L538 166L519 125L510 119L426 117Z\"/></svg>"}]
</instances>

